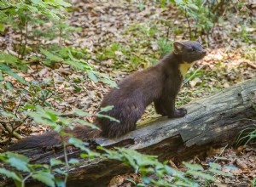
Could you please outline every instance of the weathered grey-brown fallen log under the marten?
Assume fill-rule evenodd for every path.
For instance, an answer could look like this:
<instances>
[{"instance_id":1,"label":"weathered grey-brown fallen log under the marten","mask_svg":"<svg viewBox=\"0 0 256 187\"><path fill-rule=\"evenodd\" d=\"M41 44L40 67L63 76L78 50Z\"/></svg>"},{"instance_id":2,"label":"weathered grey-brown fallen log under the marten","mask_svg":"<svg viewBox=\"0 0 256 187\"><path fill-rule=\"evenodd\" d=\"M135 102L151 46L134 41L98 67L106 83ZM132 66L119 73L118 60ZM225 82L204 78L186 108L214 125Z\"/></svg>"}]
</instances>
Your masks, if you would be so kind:
<instances>
[{"instance_id":1,"label":"weathered grey-brown fallen log under the marten","mask_svg":"<svg viewBox=\"0 0 256 187\"><path fill-rule=\"evenodd\" d=\"M161 117L119 139L96 139L91 148L96 144L107 148L124 146L158 156L160 161L170 158L185 160L195 154L204 154L211 146L233 144L241 130L255 124L255 106L254 78L185 105L188 114L183 118ZM64 157L61 148L19 152L39 163L48 163L51 157ZM79 153L79 150L73 150L68 156L78 158ZM69 169L67 186L107 186L113 176L129 172L132 172L131 167L119 161L84 161L82 166ZM32 184L34 182L29 186Z\"/></svg>"}]
</instances>

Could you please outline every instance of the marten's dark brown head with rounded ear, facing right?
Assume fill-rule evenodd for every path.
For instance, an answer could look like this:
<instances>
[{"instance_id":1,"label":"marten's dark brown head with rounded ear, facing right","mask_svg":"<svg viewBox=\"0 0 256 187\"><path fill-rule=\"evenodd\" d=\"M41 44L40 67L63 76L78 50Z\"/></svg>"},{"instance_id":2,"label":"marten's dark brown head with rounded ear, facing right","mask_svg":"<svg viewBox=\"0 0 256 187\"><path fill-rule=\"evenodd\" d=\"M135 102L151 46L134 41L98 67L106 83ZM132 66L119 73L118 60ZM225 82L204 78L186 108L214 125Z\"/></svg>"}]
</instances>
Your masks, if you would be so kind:
<instances>
[{"instance_id":1,"label":"marten's dark brown head with rounded ear, facing right","mask_svg":"<svg viewBox=\"0 0 256 187\"><path fill-rule=\"evenodd\" d=\"M192 63L202 59L207 51L201 47L201 41L173 42L173 53L179 56L183 62Z\"/></svg>"}]
</instances>

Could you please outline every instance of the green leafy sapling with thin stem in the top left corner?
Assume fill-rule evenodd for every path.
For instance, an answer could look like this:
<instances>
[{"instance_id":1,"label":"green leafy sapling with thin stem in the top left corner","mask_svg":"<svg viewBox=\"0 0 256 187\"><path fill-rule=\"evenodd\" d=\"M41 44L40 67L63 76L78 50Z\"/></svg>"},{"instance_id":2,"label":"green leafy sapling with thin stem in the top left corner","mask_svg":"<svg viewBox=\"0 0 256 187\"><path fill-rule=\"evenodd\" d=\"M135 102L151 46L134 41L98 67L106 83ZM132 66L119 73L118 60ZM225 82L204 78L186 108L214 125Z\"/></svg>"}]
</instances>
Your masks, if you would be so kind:
<instances>
[{"instance_id":1,"label":"green leafy sapling with thin stem in the top left corner","mask_svg":"<svg viewBox=\"0 0 256 187\"><path fill-rule=\"evenodd\" d=\"M9 25L13 26L14 29L20 31L19 54L21 59L23 59L24 55L26 54L28 26L30 22L44 22L43 20L45 19L60 20L61 18L65 17L61 11L70 6L70 3L66 3L62 0L32 0L30 2L3 1L0 3L0 23L7 22ZM37 19L34 16L35 14L38 15L36 16Z\"/></svg>"}]
</instances>

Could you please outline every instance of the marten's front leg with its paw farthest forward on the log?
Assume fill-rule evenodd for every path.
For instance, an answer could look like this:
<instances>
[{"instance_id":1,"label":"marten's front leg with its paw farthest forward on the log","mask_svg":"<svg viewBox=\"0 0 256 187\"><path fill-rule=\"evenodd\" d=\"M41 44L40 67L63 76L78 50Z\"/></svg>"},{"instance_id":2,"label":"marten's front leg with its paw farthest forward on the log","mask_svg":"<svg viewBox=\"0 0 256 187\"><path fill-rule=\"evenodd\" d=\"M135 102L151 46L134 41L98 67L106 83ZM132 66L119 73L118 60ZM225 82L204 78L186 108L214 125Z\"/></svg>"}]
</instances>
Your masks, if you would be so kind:
<instances>
[{"instance_id":1,"label":"marten's front leg with its paw farthest forward on the log","mask_svg":"<svg viewBox=\"0 0 256 187\"><path fill-rule=\"evenodd\" d=\"M187 114L187 110L185 108L175 109L175 99L169 98L163 104L169 118L183 117Z\"/></svg>"}]
</instances>

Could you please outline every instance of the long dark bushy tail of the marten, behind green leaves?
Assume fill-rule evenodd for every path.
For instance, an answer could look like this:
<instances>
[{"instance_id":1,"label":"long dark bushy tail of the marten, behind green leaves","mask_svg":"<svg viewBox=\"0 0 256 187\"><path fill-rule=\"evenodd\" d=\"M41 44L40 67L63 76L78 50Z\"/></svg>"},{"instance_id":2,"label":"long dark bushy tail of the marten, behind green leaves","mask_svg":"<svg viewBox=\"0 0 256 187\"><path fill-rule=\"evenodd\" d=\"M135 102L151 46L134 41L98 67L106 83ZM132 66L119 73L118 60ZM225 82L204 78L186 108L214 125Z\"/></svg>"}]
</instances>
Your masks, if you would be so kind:
<instances>
[{"instance_id":1,"label":"long dark bushy tail of the marten, behind green leaves","mask_svg":"<svg viewBox=\"0 0 256 187\"><path fill-rule=\"evenodd\" d=\"M101 136L102 131L97 129L92 129L90 127L85 126L77 126L73 130L65 129L66 133L70 133L73 137L88 140L88 139L96 139ZM62 136L55 132L51 131L49 133L44 133L38 136L32 136L27 139L22 139L16 144L12 144L9 146L7 150L28 150L33 148L46 148L55 146L57 144L61 144L63 140L67 140L69 136Z\"/></svg>"}]
</instances>

